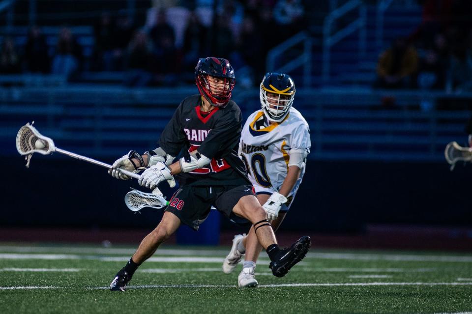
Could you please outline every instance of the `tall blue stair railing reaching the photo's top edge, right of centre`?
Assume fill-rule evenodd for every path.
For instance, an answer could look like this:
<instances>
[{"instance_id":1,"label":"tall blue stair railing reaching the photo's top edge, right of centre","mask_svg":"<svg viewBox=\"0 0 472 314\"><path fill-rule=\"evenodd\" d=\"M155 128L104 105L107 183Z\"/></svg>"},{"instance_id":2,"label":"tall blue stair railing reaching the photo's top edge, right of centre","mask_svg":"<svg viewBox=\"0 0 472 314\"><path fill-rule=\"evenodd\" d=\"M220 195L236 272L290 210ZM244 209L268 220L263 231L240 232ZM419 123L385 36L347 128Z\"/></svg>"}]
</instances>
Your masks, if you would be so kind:
<instances>
[{"instance_id":1,"label":"tall blue stair railing reaching the photo's top edge, right of centre","mask_svg":"<svg viewBox=\"0 0 472 314\"><path fill-rule=\"evenodd\" d=\"M333 26L337 20L345 16L349 12L358 9L359 17L351 22L343 29L337 30L331 34ZM331 53L330 49L333 45L341 41L343 38L349 36L355 31L359 31L358 53L359 58L365 56L366 52L366 20L367 9L362 0L350 0L338 7L324 19L323 23L323 67L322 77L323 81L327 82L330 77L331 67Z\"/></svg>"}]
</instances>

